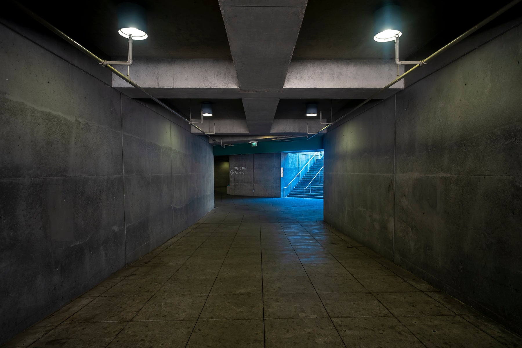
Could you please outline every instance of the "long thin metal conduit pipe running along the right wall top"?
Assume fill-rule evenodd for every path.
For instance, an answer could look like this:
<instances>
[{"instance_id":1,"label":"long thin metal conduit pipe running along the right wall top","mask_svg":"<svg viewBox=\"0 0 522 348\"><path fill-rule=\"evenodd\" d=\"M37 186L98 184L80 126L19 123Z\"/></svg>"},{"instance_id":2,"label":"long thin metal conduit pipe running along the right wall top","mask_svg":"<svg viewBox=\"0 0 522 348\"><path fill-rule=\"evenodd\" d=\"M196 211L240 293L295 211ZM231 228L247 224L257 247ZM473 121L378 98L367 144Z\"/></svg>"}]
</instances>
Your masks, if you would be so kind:
<instances>
[{"instance_id":1,"label":"long thin metal conduit pipe running along the right wall top","mask_svg":"<svg viewBox=\"0 0 522 348\"><path fill-rule=\"evenodd\" d=\"M453 41L450 41L448 44L446 44L445 46L443 46L441 49L435 51L434 53L432 53L430 56L428 56L427 58L424 58L422 59L421 62L423 62L424 64L427 64L428 61L430 61L431 59L433 59L434 57L436 57L437 55L441 54L442 52L446 51L447 49L449 49L449 47L452 47L453 45L455 45L457 42L460 42L462 41L463 39L467 38L469 35L471 35L472 33L476 32L477 30L479 30L480 28L482 28L483 26L487 25L489 22L491 22L493 19L495 19L496 17L499 17L500 15L502 15L505 11L507 11L508 9L512 8L513 6L515 6L516 4L518 4L520 1L522 0L513 0L511 3L507 4L506 6L502 7L501 9L499 9L498 11L496 11L494 14L492 14L491 16L489 16L488 18L485 18L483 21L481 21L480 23L478 23L476 26L472 27L471 29L469 29L468 31L466 31L465 33L461 34L459 37L457 37L456 39L454 39ZM393 85L395 85L395 83L399 82L400 80L404 79L408 74L411 73L411 71L417 69L419 66L421 66L420 64L417 64L415 66L413 66L411 69L409 69L408 71L406 71L406 73L398 76L395 80L393 80L392 82L388 83L388 85L384 86L383 88L381 88L380 90L378 90L377 92L375 92L374 94L371 95L370 98L364 100L363 102L361 102L359 105L355 106L352 110L350 110L349 112L347 112L346 114L342 115L341 117L339 117L338 119L336 119L334 122L332 122L331 124L327 125L326 127L324 127L323 129L319 130L316 134L314 134L313 136L311 136L310 138L308 139L312 139L313 137L315 137L317 134L321 133L323 130L325 130L326 128L330 127L331 125L333 124L336 124L337 122L341 121L341 119L345 118L346 116L350 115L351 113L353 113L355 110L358 110L361 106L363 106L364 104L366 104L367 102L371 101L373 98L375 98L379 93L381 93L382 91L392 87Z\"/></svg>"}]
</instances>

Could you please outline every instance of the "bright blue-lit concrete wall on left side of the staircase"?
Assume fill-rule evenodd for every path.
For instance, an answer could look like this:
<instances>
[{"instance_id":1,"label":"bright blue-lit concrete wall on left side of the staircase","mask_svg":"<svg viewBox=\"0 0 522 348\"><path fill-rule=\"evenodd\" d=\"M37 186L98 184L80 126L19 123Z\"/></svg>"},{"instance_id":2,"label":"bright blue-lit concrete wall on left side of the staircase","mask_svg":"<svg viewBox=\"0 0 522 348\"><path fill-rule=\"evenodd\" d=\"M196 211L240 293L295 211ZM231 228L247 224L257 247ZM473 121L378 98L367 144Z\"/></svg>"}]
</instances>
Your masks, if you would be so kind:
<instances>
[{"instance_id":1,"label":"bright blue-lit concrete wall on left side of the staircase","mask_svg":"<svg viewBox=\"0 0 522 348\"><path fill-rule=\"evenodd\" d=\"M302 153L281 152L281 167L284 168L284 176L281 178L281 197L286 197L292 191L292 188L299 183L301 177L314 165L315 160L311 159L315 153L316 151ZM316 155L316 158L319 158L320 153L323 153L323 150ZM296 177L298 174L299 176ZM284 188L287 185L288 187Z\"/></svg>"}]
</instances>

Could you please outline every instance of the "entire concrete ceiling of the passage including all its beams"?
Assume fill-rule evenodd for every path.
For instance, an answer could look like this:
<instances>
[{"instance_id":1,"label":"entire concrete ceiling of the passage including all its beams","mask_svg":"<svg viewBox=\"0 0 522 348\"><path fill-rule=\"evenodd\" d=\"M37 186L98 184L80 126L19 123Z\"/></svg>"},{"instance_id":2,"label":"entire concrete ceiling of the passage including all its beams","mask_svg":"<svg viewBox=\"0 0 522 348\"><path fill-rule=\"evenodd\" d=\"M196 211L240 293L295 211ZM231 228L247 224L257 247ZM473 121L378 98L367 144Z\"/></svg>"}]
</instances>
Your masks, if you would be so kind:
<instances>
[{"instance_id":1,"label":"entire concrete ceiling of the passage including all its beams","mask_svg":"<svg viewBox=\"0 0 522 348\"><path fill-rule=\"evenodd\" d=\"M335 119L397 73L393 42L372 39L373 13L387 0L133 1L147 9L149 38L135 41L132 79L187 118L192 113L193 121L200 103L211 102L214 116L200 127L215 127L223 141L319 130L318 117L304 115L306 102ZM404 18L401 58L418 59L508 1L397 2ZM102 57L126 56L116 28L119 1L82 3L69 16L55 10L69 2L22 3ZM113 87L145 97L116 77ZM379 98L402 88L404 81Z\"/></svg>"}]
</instances>

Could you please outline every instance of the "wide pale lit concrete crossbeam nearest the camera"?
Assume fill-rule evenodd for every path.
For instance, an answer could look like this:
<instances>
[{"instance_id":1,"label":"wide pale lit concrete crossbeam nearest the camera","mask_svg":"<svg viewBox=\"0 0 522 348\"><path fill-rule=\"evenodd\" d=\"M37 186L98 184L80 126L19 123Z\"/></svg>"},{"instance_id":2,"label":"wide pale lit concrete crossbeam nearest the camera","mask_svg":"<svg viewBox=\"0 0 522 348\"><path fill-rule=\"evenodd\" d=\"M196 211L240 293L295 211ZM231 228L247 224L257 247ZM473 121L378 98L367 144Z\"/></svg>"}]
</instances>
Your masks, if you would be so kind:
<instances>
[{"instance_id":1,"label":"wide pale lit concrete crossbeam nearest the camera","mask_svg":"<svg viewBox=\"0 0 522 348\"><path fill-rule=\"evenodd\" d=\"M126 67L116 68L127 74ZM234 64L226 59L135 59L131 66L131 78L155 97L164 99L365 99L396 75L397 66L392 60L294 61L282 87L240 89ZM112 85L129 97L147 98L115 75ZM402 88L404 80L379 98L387 98Z\"/></svg>"}]
</instances>

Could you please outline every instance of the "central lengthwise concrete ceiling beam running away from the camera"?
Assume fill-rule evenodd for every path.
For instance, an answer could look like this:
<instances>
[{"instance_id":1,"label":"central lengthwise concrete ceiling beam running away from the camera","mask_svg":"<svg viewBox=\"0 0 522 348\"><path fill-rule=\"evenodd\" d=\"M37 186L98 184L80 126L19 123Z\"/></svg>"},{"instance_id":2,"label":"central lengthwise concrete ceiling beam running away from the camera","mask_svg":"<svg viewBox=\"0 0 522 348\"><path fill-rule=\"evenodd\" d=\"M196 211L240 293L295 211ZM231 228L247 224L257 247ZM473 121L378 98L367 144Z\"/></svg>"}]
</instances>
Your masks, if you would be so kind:
<instances>
[{"instance_id":1,"label":"central lengthwise concrete ceiling beam running away from the camera","mask_svg":"<svg viewBox=\"0 0 522 348\"><path fill-rule=\"evenodd\" d=\"M282 89L307 0L220 0L242 91ZM269 132L277 98L243 98L251 133Z\"/></svg>"}]
</instances>

